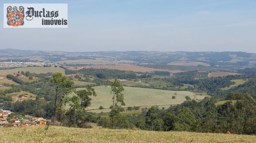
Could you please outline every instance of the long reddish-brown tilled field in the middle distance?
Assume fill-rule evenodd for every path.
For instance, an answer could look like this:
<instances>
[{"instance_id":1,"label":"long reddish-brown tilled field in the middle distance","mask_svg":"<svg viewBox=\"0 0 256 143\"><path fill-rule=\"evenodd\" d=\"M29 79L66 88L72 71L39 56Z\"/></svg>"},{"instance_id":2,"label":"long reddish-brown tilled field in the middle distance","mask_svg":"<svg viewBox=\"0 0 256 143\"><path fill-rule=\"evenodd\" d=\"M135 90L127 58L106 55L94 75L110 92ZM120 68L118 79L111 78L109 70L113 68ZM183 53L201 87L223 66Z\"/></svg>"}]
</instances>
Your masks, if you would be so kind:
<instances>
[{"instance_id":1,"label":"long reddish-brown tilled field in the middle distance","mask_svg":"<svg viewBox=\"0 0 256 143\"><path fill-rule=\"evenodd\" d=\"M70 70L80 70L82 68L96 68L96 69L116 69L116 70L125 70L125 71L134 71L134 72L150 72L150 71L169 71L171 73L177 73L177 72L184 72L180 70L160 70L160 69L154 69L150 67L143 67L143 66L136 66L136 65L116 65L116 66L110 66L110 65L95 65L95 66L81 66L77 68L70 67L68 69Z\"/></svg>"}]
</instances>

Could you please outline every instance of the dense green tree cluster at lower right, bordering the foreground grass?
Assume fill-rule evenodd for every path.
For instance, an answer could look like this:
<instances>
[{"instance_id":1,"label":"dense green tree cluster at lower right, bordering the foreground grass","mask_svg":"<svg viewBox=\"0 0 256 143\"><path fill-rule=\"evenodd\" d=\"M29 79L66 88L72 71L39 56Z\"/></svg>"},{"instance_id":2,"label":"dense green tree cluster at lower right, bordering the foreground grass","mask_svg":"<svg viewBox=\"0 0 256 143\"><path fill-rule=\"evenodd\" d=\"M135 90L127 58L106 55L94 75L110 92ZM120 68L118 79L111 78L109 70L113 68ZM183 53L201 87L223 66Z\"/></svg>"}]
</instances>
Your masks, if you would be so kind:
<instances>
[{"instance_id":1,"label":"dense green tree cluster at lower right, bordering the foreground grass","mask_svg":"<svg viewBox=\"0 0 256 143\"><path fill-rule=\"evenodd\" d=\"M216 99L205 98L201 102L187 100L167 110L157 106L144 108L138 116L121 118L115 128L255 134L255 100L249 93L229 93L228 98L235 102L230 100L216 106ZM110 119L100 119L98 123L109 128L111 122Z\"/></svg>"}]
</instances>

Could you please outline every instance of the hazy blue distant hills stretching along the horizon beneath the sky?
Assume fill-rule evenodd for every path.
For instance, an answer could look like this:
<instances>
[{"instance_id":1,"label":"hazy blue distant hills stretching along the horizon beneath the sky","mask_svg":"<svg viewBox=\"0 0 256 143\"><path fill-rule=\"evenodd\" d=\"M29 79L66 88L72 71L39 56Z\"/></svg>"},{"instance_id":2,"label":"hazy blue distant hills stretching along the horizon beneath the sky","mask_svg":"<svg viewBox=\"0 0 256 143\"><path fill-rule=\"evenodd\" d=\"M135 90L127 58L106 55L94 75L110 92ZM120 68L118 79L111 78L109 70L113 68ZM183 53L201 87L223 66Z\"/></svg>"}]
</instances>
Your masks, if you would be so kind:
<instances>
[{"instance_id":1,"label":"hazy blue distant hills stretching along the horizon beneath the sky","mask_svg":"<svg viewBox=\"0 0 256 143\"><path fill-rule=\"evenodd\" d=\"M16 50L0 49L0 61L23 60L23 61L50 61L114 58L131 60L140 63L167 64L172 61L200 61L211 63L256 63L255 53L246 52L161 52L161 51L99 51L99 52L65 52L65 51L41 51L41 50ZM244 63L239 63L244 64ZM232 65L232 64L231 64Z\"/></svg>"}]
</instances>

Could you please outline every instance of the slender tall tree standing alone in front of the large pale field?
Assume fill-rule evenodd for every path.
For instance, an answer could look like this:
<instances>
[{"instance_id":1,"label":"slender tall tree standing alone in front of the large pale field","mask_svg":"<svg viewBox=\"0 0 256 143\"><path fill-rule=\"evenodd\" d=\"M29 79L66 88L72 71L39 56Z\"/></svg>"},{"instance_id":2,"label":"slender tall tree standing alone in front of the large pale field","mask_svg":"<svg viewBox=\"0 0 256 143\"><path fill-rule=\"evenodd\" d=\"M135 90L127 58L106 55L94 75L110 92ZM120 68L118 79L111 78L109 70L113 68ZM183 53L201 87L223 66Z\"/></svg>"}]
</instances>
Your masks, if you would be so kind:
<instances>
[{"instance_id":1,"label":"slender tall tree standing alone in front of the large pale field","mask_svg":"<svg viewBox=\"0 0 256 143\"><path fill-rule=\"evenodd\" d=\"M121 93L124 88L121 85L121 83L115 79L114 82L111 82L111 93L113 93L112 102L113 104L110 106L111 111L109 112L109 117L111 118L111 129L113 129L114 126L114 120L117 120L119 115L119 109L121 108L121 105L125 105L124 103L124 97L123 93ZM121 104L121 105L118 105ZM115 122L116 125L116 122Z\"/></svg>"}]
</instances>

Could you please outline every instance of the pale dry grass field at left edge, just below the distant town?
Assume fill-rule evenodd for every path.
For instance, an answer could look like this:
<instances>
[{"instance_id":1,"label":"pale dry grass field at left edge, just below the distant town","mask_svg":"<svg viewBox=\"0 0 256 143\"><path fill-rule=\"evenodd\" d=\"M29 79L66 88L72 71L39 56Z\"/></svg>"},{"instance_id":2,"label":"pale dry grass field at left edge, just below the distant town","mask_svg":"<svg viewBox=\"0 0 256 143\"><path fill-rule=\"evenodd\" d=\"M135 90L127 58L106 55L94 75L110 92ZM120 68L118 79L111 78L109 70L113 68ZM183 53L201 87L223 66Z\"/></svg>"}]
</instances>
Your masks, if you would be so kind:
<instances>
[{"instance_id":1,"label":"pale dry grass field at left edge, just below the distant town","mask_svg":"<svg viewBox=\"0 0 256 143\"><path fill-rule=\"evenodd\" d=\"M20 67L10 70L0 70L0 74L13 74L18 73L18 71L29 71L31 73L60 72L62 74L65 74L65 70L60 67Z\"/></svg>"}]
</instances>

